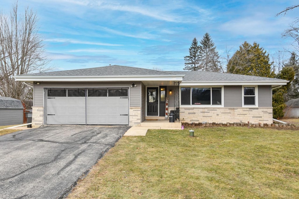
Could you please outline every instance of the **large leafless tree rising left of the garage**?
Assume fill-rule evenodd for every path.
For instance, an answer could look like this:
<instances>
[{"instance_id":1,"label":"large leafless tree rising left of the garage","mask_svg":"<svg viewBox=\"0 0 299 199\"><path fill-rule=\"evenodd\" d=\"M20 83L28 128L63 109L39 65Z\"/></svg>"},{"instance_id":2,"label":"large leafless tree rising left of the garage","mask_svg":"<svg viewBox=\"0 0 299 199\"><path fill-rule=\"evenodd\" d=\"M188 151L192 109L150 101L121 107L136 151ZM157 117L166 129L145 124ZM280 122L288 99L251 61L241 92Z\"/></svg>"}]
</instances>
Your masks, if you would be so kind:
<instances>
[{"instance_id":1,"label":"large leafless tree rising left of the garage","mask_svg":"<svg viewBox=\"0 0 299 199\"><path fill-rule=\"evenodd\" d=\"M47 66L37 22L36 13L28 7L19 15L17 3L10 15L0 12L0 96L28 98L31 88L16 82L13 76L52 69Z\"/></svg>"}]
</instances>

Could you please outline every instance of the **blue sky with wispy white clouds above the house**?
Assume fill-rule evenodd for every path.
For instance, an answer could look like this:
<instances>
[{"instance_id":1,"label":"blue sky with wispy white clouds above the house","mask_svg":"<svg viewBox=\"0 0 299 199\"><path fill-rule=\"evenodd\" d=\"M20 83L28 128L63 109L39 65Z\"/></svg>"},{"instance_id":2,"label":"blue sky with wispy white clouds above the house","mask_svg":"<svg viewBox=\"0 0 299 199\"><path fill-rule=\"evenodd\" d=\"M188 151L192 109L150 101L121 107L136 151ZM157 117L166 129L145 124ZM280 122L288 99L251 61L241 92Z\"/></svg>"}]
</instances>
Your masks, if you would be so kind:
<instances>
[{"instance_id":1,"label":"blue sky with wispy white clouds above the house","mask_svg":"<svg viewBox=\"0 0 299 199\"><path fill-rule=\"evenodd\" d=\"M8 13L13 1L1 0ZM36 11L45 53L55 70L125 65L181 71L192 39L208 32L226 57L244 41L274 56L291 49L281 33L298 9L275 15L298 1L19 0ZM287 55L288 56L288 55ZM272 58L271 58L272 59Z\"/></svg>"}]
</instances>

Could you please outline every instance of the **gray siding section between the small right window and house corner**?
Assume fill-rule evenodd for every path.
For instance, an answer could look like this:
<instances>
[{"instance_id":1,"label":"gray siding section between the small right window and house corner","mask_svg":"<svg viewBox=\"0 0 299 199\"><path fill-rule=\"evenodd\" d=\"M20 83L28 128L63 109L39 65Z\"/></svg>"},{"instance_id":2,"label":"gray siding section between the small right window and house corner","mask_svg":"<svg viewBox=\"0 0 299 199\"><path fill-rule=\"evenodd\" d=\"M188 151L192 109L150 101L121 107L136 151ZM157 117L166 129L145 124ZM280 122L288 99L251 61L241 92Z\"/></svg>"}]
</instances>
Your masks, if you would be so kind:
<instances>
[{"instance_id":1,"label":"gray siding section between the small right window and house corner","mask_svg":"<svg viewBox=\"0 0 299 199\"><path fill-rule=\"evenodd\" d=\"M259 107L272 107L272 87L271 85L258 86L258 105Z\"/></svg>"}]
</instances>

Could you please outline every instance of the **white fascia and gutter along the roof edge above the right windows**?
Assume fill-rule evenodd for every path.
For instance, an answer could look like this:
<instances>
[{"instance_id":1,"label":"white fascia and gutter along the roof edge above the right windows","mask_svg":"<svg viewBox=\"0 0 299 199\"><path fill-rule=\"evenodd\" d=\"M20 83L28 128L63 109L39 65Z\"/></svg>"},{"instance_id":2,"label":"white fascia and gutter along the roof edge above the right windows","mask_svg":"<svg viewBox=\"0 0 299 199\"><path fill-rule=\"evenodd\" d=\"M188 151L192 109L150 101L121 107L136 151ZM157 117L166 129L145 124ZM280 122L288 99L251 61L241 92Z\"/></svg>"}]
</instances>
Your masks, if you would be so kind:
<instances>
[{"instance_id":1,"label":"white fascia and gutter along the roof edge above the right windows","mask_svg":"<svg viewBox=\"0 0 299 199\"><path fill-rule=\"evenodd\" d=\"M182 81L180 86L203 86L203 85L286 85L289 81L281 80L281 81L247 81L247 82L240 82L240 81L225 81L225 82L186 82Z\"/></svg>"}]
</instances>

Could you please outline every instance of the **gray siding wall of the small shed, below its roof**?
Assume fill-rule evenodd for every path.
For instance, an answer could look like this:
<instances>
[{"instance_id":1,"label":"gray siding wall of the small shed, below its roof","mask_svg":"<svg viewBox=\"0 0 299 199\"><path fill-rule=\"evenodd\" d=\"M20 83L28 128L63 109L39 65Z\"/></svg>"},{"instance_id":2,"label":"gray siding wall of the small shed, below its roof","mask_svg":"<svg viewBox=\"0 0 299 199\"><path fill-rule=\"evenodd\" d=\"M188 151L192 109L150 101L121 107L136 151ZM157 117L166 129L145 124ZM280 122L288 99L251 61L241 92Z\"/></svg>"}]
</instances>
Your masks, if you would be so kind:
<instances>
[{"instance_id":1,"label":"gray siding wall of the small shed, below its roof","mask_svg":"<svg viewBox=\"0 0 299 199\"><path fill-rule=\"evenodd\" d=\"M23 124L23 109L0 109L0 126Z\"/></svg>"}]
</instances>

